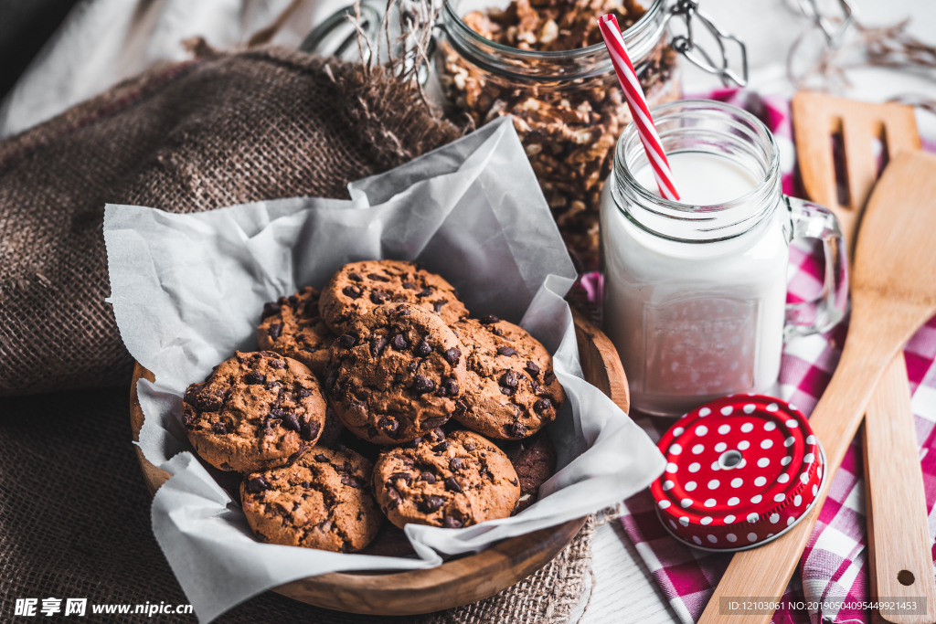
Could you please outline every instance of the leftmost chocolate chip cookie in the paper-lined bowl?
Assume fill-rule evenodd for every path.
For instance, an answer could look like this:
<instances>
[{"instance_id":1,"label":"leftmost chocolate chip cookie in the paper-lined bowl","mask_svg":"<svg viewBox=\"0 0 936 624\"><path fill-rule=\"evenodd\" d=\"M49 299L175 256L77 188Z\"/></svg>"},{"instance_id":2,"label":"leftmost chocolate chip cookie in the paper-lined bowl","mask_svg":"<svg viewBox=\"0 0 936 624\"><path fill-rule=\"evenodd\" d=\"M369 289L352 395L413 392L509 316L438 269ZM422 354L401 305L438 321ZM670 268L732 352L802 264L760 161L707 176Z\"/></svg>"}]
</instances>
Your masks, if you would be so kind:
<instances>
[{"instance_id":1,"label":"leftmost chocolate chip cookie in the paper-lined bowl","mask_svg":"<svg viewBox=\"0 0 936 624\"><path fill-rule=\"evenodd\" d=\"M198 455L223 471L282 466L314 446L325 399L312 371L270 351L238 352L185 391L183 419Z\"/></svg>"}]
</instances>

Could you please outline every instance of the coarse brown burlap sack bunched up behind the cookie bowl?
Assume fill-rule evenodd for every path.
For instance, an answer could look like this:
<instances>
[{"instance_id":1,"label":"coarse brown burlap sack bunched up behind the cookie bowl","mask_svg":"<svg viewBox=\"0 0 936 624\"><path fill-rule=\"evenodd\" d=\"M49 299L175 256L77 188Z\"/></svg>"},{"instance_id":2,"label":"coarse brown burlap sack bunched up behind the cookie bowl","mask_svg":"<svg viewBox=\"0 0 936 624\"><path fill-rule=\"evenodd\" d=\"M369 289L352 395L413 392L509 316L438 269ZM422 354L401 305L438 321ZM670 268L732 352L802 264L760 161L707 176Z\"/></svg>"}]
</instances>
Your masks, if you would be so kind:
<instances>
[{"instance_id":1,"label":"coarse brown burlap sack bunched up behind the cookie bowl","mask_svg":"<svg viewBox=\"0 0 936 624\"><path fill-rule=\"evenodd\" d=\"M419 104L386 70L268 49L150 71L0 142L0 396L128 382L106 202L347 197L460 135Z\"/></svg>"}]
</instances>

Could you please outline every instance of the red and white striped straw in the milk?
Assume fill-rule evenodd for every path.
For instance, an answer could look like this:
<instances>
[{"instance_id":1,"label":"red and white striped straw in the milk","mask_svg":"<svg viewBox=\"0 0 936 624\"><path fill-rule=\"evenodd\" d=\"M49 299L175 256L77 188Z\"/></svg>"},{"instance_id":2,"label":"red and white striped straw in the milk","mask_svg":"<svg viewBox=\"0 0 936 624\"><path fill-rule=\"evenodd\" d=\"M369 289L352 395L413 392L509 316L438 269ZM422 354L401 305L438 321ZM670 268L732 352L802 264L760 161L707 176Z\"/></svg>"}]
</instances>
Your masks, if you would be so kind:
<instances>
[{"instance_id":1,"label":"red and white striped straw in the milk","mask_svg":"<svg viewBox=\"0 0 936 624\"><path fill-rule=\"evenodd\" d=\"M656 178L657 186L660 187L660 195L672 201L679 201L680 194L673 183L673 172L669 170L669 161L666 160L663 144L660 142L660 136L656 134L656 126L653 125L653 118L647 107L647 97L640 87L634 65L631 65L631 59L624 47L624 37L621 36L618 20L611 13L602 15L598 18L598 27L601 29L601 36L605 37L605 45L611 55L614 72L621 81L627 107L631 109L631 117L637 124L640 142L643 143L647 159L653 167L653 176Z\"/></svg>"}]
</instances>

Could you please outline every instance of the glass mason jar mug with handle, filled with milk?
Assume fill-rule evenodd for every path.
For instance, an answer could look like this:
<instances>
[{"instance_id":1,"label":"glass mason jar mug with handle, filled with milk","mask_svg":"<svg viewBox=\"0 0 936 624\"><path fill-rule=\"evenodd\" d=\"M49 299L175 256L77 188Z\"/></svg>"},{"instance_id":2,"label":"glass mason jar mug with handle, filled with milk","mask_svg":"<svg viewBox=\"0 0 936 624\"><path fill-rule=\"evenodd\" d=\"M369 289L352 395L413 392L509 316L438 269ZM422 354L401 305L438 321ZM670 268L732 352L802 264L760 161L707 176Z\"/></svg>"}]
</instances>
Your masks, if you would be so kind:
<instances>
[{"instance_id":1,"label":"glass mason jar mug with handle, filled with milk","mask_svg":"<svg viewBox=\"0 0 936 624\"><path fill-rule=\"evenodd\" d=\"M671 162L722 157L715 160L750 174L753 190L710 206L668 201L638 181L648 183L641 171L649 165L636 126L618 141L601 205L604 318L632 405L681 415L728 394L771 394L784 339L826 331L844 315L838 222L821 206L782 195L777 145L750 113L710 100L651 113ZM789 244L797 238L822 240L826 276L820 297L788 305Z\"/></svg>"}]
</instances>

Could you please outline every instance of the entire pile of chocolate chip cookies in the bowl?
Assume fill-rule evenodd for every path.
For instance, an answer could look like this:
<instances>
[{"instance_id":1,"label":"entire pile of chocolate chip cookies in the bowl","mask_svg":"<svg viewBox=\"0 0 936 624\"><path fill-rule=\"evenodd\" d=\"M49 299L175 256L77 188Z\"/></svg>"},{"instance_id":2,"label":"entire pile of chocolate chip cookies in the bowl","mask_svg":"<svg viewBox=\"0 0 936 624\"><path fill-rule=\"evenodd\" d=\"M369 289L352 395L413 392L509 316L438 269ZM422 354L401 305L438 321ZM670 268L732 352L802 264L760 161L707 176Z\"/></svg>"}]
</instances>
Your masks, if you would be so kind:
<instances>
[{"instance_id":1,"label":"entire pile of chocolate chip cookies in the bowl","mask_svg":"<svg viewBox=\"0 0 936 624\"><path fill-rule=\"evenodd\" d=\"M257 341L189 386L183 415L198 455L243 475L264 542L358 552L394 531L385 517L467 527L532 504L555 470L538 432L565 397L546 348L471 318L417 264L345 265L321 294L268 303Z\"/></svg>"}]
</instances>

